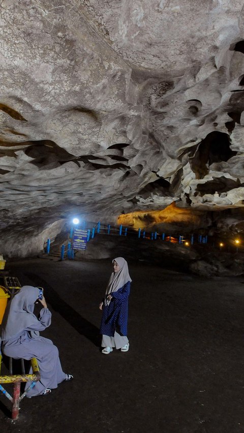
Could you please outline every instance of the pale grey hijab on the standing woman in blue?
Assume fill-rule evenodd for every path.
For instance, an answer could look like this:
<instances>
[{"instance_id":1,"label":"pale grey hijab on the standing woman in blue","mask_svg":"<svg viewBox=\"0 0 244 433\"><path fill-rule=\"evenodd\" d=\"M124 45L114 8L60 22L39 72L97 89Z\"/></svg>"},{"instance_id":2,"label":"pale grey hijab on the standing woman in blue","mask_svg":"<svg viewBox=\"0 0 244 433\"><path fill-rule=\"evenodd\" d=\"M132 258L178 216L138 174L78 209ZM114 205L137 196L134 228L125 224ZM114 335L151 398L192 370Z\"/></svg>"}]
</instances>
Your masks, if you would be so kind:
<instances>
[{"instance_id":1,"label":"pale grey hijab on the standing woman in blue","mask_svg":"<svg viewBox=\"0 0 244 433\"><path fill-rule=\"evenodd\" d=\"M128 281L132 281L129 269L128 269L128 263L123 257L116 257L116 259L112 260L115 261L119 266L118 272L112 272L107 289L106 289L106 297L105 297L105 305L108 305L110 301L107 300L107 296L112 292L117 292L118 289L123 287Z\"/></svg>"}]
</instances>

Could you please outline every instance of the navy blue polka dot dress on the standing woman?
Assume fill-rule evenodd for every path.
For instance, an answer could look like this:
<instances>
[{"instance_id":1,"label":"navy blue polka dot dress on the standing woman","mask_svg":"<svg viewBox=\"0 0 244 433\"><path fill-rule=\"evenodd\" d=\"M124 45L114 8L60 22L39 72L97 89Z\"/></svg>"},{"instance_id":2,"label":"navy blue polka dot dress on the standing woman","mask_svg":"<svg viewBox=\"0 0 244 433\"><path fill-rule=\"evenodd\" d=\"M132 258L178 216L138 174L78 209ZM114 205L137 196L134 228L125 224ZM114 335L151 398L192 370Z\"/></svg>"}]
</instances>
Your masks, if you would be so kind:
<instances>
[{"instance_id":1,"label":"navy blue polka dot dress on the standing woman","mask_svg":"<svg viewBox=\"0 0 244 433\"><path fill-rule=\"evenodd\" d=\"M128 281L116 292L112 292L112 299L103 308L100 334L113 337L115 330L119 335L127 335L128 298L131 282Z\"/></svg>"}]
</instances>

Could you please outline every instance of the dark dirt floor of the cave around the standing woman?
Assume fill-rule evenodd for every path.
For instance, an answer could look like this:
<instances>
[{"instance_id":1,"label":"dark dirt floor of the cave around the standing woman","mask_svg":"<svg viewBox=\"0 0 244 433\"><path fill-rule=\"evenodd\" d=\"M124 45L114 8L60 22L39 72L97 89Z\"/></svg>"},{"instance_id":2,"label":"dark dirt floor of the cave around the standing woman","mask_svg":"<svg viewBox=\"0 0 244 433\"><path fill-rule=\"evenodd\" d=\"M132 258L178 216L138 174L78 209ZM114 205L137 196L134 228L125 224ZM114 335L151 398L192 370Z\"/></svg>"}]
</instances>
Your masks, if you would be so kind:
<instances>
[{"instance_id":1,"label":"dark dirt floor of the cave around the standing woman","mask_svg":"<svg viewBox=\"0 0 244 433\"><path fill-rule=\"evenodd\" d=\"M44 287L52 324L42 335L74 380L24 398L16 421L1 393L1 432L244 432L244 277L206 280L130 261L130 351L103 355L98 305L110 260L8 268L22 285Z\"/></svg>"}]
</instances>

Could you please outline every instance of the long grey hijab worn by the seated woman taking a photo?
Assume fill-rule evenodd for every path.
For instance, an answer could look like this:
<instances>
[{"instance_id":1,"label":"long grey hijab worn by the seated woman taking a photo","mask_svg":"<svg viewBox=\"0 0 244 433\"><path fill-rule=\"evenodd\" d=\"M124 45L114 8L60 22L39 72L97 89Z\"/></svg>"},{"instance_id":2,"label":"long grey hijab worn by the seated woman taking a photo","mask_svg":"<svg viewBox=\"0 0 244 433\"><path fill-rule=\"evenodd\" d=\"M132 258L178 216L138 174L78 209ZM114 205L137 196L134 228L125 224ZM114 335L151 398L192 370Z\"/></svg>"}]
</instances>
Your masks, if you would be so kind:
<instances>
[{"instance_id":1,"label":"long grey hijab worn by the seated woman taking a photo","mask_svg":"<svg viewBox=\"0 0 244 433\"><path fill-rule=\"evenodd\" d=\"M39 289L33 286L23 286L9 302L3 323L0 326L0 338L7 340L32 327L37 321L34 304L38 299ZM39 335L38 331L31 331L32 336Z\"/></svg>"}]
</instances>

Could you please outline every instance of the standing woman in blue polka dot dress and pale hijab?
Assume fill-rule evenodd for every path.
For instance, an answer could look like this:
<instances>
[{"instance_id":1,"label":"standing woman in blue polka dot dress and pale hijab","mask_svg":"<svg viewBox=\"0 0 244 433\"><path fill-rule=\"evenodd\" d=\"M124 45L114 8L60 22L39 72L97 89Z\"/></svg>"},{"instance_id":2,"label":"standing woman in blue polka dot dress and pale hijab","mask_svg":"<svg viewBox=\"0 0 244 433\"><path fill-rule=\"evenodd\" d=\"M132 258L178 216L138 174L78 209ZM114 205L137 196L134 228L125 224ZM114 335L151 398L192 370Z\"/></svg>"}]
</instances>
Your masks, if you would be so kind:
<instances>
[{"instance_id":1,"label":"standing woman in blue polka dot dress and pale hijab","mask_svg":"<svg viewBox=\"0 0 244 433\"><path fill-rule=\"evenodd\" d=\"M113 272L110 276L105 298L99 308L103 311L100 334L102 334L102 353L108 355L113 347L128 352L127 338L128 298L131 288L127 261L117 257L112 261Z\"/></svg>"}]
</instances>

